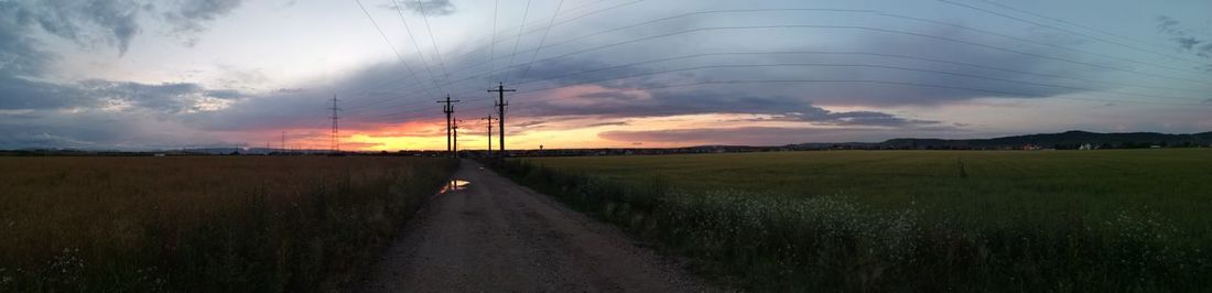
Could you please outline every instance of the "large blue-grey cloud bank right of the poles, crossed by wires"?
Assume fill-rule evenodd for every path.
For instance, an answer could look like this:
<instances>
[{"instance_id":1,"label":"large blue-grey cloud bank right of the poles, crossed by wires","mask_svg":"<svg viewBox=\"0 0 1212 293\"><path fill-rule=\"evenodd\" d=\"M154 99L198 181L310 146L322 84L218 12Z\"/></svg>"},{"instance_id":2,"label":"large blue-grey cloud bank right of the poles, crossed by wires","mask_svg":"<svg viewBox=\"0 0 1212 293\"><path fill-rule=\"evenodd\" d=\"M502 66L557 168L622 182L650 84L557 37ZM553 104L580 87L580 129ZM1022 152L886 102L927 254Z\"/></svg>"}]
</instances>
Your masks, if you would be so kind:
<instances>
[{"instance_id":1,"label":"large blue-grey cloud bank right of the poles, crossed by wires","mask_svg":"<svg viewBox=\"0 0 1212 293\"><path fill-rule=\"evenodd\" d=\"M924 35L972 44L1005 42L955 28L924 28ZM578 53L537 62L530 76L538 81L527 84L541 88L595 85L622 90L707 85L703 87L760 92L771 97L804 96L801 93L806 92L812 102L823 105L887 107L936 105L987 97L1046 98L1097 91L1107 85L1056 76L1088 80L1110 71L1082 65L1080 63L1090 63L1084 56L1063 50L990 48L915 35L862 35L864 38L831 50L793 45L745 51L707 42L699 45L699 52L673 54L651 48L678 47L687 40L636 42L589 56ZM720 38L728 39L728 35ZM608 59L616 62L605 62Z\"/></svg>"}]
</instances>

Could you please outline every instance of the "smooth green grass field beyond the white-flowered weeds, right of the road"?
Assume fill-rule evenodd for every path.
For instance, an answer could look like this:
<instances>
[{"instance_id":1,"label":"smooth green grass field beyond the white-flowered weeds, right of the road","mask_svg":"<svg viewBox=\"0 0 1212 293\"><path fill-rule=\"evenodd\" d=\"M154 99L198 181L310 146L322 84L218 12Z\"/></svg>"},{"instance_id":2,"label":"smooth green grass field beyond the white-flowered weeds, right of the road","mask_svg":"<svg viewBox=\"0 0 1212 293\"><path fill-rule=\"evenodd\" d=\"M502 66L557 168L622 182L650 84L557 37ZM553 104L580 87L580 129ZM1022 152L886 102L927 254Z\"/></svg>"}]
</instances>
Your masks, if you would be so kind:
<instances>
[{"instance_id":1,"label":"smooth green grass field beyond the white-flowered weeds, right of the road","mask_svg":"<svg viewBox=\"0 0 1212 293\"><path fill-rule=\"evenodd\" d=\"M545 157L537 165L673 189L766 196L841 195L876 207L971 211L1029 206L1086 213L1153 211L1207 234L1212 150L802 151L669 156ZM1204 224L1204 225L1197 225Z\"/></svg>"}]
</instances>

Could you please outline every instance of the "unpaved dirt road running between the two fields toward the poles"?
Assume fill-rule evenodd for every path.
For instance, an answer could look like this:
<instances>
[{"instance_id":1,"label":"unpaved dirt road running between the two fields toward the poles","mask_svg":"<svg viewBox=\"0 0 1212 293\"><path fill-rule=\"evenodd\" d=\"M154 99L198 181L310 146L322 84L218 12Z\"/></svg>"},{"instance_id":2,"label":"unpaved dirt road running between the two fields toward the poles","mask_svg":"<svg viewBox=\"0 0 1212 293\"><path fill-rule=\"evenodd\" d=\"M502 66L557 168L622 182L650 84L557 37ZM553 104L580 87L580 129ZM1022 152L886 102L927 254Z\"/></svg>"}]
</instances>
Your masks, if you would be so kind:
<instances>
[{"instance_id":1,"label":"unpaved dirt road running between the two fields toward the poles","mask_svg":"<svg viewBox=\"0 0 1212 293\"><path fill-rule=\"evenodd\" d=\"M388 249L368 292L701 292L614 226L464 160Z\"/></svg>"}]
</instances>

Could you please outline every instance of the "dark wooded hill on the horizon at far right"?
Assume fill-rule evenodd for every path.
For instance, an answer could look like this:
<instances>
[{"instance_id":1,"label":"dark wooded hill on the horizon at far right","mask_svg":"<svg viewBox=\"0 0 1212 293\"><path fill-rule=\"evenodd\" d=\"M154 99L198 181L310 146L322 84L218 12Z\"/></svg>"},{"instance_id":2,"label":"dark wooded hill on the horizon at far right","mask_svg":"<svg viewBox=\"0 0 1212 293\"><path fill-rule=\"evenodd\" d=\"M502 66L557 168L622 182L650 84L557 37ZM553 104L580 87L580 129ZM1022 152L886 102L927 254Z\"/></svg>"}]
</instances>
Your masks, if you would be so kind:
<instances>
[{"instance_id":1,"label":"dark wooded hill on the horizon at far right","mask_svg":"<svg viewBox=\"0 0 1212 293\"><path fill-rule=\"evenodd\" d=\"M1189 148L1212 144L1212 132L1167 134L1156 132L1097 133L1067 131L984 139L896 138L882 143L811 143L793 146L805 149L1077 149L1082 145L1099 149Z\"/></svg>"}]
</instances>

